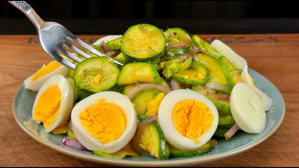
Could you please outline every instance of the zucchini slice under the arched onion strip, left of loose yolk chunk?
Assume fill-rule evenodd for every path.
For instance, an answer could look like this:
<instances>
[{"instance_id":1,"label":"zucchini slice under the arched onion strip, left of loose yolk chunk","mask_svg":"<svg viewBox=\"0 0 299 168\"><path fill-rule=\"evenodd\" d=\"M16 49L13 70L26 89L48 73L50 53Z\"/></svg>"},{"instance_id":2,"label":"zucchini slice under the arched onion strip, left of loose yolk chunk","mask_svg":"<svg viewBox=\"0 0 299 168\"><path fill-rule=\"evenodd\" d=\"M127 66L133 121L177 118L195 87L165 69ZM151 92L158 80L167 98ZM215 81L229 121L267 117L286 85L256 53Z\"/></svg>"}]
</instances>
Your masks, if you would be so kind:
<instances>
[{"instance_id":1,"label":"zucchini slice under the arched onion strip, left of loose yolk chunk","mask_svg":"<svg viewBox=\"0 0 299 168\"><path fill-rule=\"evenodd\" d=\"M132 103L135 105L135 110L137 114L144 114L147 112L147 105L149 101L154 100L158 94L161 93L161 91L155 90L155 89L146 89L144 91L141 91L139 94L137 94L134 99L132 100Z\"/></svg>"}]
</instances>

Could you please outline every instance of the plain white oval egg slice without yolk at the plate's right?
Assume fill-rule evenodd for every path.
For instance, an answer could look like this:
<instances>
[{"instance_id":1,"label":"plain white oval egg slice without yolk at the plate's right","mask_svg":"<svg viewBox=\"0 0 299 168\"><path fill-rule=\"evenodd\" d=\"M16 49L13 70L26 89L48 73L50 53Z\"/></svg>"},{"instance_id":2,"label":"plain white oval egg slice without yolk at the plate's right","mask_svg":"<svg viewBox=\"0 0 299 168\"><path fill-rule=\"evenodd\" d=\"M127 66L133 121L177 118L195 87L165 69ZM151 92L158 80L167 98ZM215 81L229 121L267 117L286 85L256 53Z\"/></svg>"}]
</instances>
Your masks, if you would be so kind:
<instances>
[{"instance_id":1,"label":"plain white oval egg slice without yolk at the plate's right","mask_svg":"<svg viewBox=\"0 0 299 168\"><path fill-rule=\"evenodd\" d=\"M237 83L230 96L231 114L237 125L248 133L261 133L266 127L266 112L255 91L246 83Z\"/></svg>"}]
</instances>

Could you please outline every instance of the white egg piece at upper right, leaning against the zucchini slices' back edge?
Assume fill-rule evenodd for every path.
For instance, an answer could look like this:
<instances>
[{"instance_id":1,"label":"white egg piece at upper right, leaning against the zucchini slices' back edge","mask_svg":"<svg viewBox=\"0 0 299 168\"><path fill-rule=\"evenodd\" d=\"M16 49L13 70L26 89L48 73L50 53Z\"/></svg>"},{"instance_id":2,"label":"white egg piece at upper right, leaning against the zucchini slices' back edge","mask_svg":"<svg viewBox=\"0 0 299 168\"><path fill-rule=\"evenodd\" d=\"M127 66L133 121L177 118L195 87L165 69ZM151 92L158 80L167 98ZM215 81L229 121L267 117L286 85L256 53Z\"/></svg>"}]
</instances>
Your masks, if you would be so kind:
<instances>
[{"instance_id":1,"label":"white egg piece at upper right, leaning against the zucchini slices' back edge","mask_svg":"<svg viewBox=\"0 0 299 168\"><path fill-rule=\"evenodd\" d=\"M241 70L245 65L247 65L247 62L243 57L235 53L234 50L232 50L222 41L216 39L211 43L211 46L215 48L221 55L225 56L229 62L231 62L234 68Z\"/></svg>"}]
</instances>

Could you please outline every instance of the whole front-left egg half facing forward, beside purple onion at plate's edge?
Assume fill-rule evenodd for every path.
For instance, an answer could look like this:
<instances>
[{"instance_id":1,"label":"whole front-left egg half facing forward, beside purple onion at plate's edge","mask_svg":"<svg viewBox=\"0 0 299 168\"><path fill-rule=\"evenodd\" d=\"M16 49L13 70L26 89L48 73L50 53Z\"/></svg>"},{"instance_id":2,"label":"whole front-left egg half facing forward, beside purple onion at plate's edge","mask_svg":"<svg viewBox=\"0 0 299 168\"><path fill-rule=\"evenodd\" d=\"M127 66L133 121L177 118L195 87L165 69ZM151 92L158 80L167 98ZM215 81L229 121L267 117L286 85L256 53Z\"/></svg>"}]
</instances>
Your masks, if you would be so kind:
<instances>
[{"instance_id":1,"label":"whole front-left egg half facing forward, beside purple onion at plate's edge","mask_svg":"<svg viewBox=\"0 0 299 168\"><path fill-rule=\"evenodd\" d=\"M89 150L114 153L133 138L137 115L129 98L102 91L81 100L71 113L77 140Z\"/></svg>"}]
</instances>

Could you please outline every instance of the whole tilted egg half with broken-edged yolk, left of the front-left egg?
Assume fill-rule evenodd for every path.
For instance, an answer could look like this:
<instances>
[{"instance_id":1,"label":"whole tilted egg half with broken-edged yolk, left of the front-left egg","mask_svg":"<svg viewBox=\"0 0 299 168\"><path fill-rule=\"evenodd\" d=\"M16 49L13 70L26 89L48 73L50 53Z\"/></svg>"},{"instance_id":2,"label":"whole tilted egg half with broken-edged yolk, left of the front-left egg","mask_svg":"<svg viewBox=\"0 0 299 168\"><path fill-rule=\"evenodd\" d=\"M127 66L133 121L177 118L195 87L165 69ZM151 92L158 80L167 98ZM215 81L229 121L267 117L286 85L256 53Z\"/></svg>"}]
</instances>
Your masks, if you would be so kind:
<instances>
[{"instance_id":1,"label":"whole tilted egg half with broken-edged yolk, left of the front-left egg","mask_svg":"<svg viewBox=\"0 0 299 168\"><path fill-rule=\"evenodd\" d=\"M74 92L68 80L60 74L50 77L36 95L32 118L44 123L45 131L67 123L73 108Z\"/></svg>"}]
</instances>

